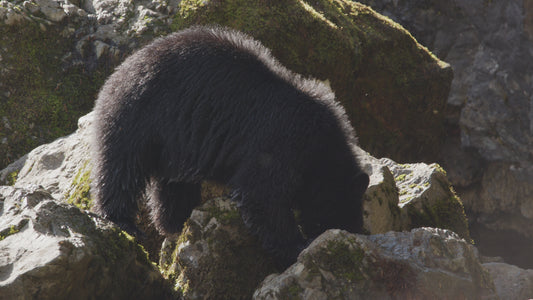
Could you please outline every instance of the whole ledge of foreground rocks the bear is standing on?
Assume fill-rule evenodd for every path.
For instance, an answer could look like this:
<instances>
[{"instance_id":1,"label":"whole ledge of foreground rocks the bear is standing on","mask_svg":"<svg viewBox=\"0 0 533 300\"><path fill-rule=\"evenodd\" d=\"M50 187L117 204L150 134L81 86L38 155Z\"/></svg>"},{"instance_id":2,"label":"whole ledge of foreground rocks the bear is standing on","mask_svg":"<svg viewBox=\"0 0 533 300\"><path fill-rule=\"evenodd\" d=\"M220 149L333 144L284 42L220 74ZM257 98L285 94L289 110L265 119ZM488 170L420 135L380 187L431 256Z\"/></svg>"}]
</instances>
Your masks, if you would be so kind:
<instances>
[{"instance_id":1,"label":"whole ledge of foreground rocks the bear is standing on","mask_svg":"<svg viewBox=\"0 0 533 300\"><path fill-rule=\"evenodd\" d=\"M162 246L142 241L152 245L147 254L87 210L91 122L91 114L81 118L75 133L0 172L13 177L18 170L14 186L0 188L1 297L518 299L533 292L531 271L482 263L442 168L397 164L360 149L371 178L364 197L370 235L329 230L281 270L248 234L225 189L207 184L205 203L181 236Z\"/></svg>"}]
</instances>

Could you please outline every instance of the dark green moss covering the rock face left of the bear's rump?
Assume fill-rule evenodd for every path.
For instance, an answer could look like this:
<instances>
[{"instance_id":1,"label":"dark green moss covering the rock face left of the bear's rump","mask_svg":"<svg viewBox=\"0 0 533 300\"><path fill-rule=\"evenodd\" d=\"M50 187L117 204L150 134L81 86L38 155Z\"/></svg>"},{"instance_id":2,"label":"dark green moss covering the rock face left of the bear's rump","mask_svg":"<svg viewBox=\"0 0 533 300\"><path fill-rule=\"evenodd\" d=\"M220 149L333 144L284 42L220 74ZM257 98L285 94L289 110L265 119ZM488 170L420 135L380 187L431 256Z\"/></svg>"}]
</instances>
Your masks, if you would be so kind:
<instances>
[{"instance_id":1,"label":"dark green moss covering the rock face left of the bear's rump","mask_svg":"<svg viewBox=\"0 0 533 300\"><path fill-rule=\"evenodd\" d=\"M37 145L71 133L78 118L90 111L112 66L96 70L62 68L62 57L74 41L61 36L60 26L41 29L36 21L0 26L0 169ZM61 36L58 38L58 36ZM3 90L2 92L6 92ZM6 124L8 124L6 126Z\"/></svg>"}]
</instances>

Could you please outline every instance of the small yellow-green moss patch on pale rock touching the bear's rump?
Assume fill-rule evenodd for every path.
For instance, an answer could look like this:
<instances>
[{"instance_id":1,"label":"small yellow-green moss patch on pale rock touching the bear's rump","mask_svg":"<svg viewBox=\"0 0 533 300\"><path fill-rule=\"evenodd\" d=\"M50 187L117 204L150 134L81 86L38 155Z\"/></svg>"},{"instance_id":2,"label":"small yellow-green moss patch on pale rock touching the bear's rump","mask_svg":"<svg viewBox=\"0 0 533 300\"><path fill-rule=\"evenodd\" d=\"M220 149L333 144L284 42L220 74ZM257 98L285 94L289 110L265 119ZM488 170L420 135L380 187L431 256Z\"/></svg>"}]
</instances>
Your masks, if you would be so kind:
<instances>
[{"instance_id":1,"label":"small yellow-green moss patch on pale rock touching the bear's rump","mask_svg":"<svg viewBox=\"0 0 533 300\"><path fill-rule=\"evenodd\" d=\"M78 173L72 180L68 192L65 194L67 203L73 204L78 208L85 210L92 207L92 199L90 198L91 189L91 167L86 161L78 170Z\"/></svg>"}]
</instances>

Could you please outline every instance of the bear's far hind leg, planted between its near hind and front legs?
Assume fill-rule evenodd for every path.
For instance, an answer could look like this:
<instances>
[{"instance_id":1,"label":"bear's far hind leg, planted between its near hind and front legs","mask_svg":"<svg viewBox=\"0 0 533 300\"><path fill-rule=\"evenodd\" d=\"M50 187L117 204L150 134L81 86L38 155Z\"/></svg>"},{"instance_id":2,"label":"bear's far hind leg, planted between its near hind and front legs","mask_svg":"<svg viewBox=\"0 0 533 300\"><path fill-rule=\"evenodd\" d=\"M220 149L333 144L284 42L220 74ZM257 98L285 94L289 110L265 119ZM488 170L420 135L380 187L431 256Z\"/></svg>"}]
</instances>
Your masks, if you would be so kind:
<instances>
[{"instance_id":1,"label":"bear's far hind leg, planted between its near hind and front legs","mask_svg":"<svg viewBox=\"0 0 533 300\"><path fill-rule=\"evenodd\" d=\"M152 221L163 235L180 233L192 210L200 203L200 183L154 180L149 197Z\"/></svg>"}]
</instances>

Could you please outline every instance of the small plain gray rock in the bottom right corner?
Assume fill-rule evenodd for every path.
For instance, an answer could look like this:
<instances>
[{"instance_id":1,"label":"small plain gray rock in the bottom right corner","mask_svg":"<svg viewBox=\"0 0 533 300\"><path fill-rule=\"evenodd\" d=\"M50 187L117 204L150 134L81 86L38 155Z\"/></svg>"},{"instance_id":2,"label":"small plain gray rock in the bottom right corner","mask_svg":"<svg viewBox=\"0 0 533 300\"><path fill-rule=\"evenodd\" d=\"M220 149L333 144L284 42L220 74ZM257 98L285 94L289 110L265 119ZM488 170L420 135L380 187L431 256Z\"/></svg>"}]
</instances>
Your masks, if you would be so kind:
<instances>
[{"instance_id":1,"label":"small plain gray rock in the bottom right corner","mask_svg":"<svg viewBox=\"0 0 533 300\"><path fill-rule=\"evenodd\" d=\"M494 279L500 299L530 299L533 295L533 270L523 270L504 263L485 263Z\"/></svg>"}]
</instances>

